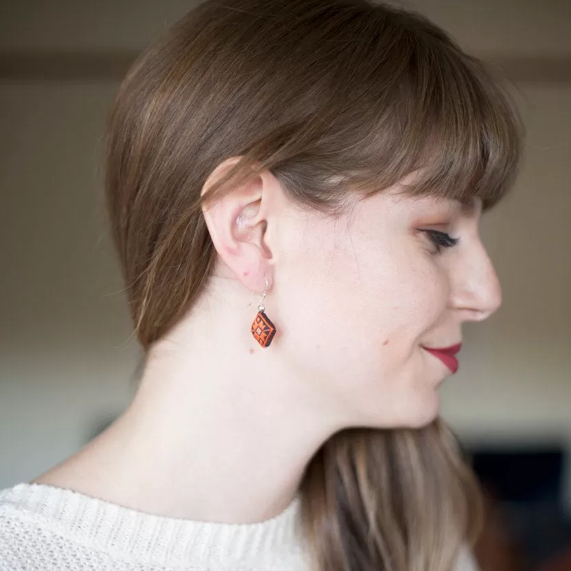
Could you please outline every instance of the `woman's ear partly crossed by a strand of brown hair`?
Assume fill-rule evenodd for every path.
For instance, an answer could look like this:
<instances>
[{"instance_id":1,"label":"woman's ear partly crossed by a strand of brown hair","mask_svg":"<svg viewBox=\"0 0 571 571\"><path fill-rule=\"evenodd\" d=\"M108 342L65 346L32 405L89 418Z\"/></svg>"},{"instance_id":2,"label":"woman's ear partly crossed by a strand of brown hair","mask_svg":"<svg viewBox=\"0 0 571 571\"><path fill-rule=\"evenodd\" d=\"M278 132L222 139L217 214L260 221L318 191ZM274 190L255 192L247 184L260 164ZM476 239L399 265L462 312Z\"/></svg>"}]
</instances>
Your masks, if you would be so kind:
<instances>
[{"instance_id":1,"label":"woman's ear partly crossed by a strand of brown hair","mask_svg":"<svg viewBox=\"0 0 571 571\"><path fill-rule=\"evenodd\" d=\"M238 160L233 157L221 162L208 176L202 194ZM269 226L276 223L280 193L278 180L269 171L263 171L222 198L202 206L218 255L250 291L263 291L265 278L268 289L271 287L274 253L268 237L276 233L269 232Z\"/></svg>"}]
</instances>

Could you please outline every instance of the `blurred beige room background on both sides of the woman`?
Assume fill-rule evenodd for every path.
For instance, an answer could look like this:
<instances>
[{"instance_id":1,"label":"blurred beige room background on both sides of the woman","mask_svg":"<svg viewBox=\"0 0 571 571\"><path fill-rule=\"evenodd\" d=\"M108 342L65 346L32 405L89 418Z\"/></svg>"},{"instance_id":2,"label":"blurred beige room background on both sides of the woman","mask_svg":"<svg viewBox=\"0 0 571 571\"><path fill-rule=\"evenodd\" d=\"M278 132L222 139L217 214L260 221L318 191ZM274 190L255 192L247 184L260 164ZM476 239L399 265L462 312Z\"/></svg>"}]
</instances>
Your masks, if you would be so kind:
<instances>
[{"instance_id":1,"label":"blurred beige room background on both sides of the woman","mask_svg":"<svg viewBox=\"0 0 571 571\"><path fill-rule=\"evenodd\" d=\"M442 389L489 498L478 560L571 570L571 2L402 5L507 75L528 130L515 190L483 221L504 304L466 327ZM82 447L134 391L141 354L106 228L101 135L130 62L192 6L1 5L0 488Z\"/></svg>"}]
</instances>

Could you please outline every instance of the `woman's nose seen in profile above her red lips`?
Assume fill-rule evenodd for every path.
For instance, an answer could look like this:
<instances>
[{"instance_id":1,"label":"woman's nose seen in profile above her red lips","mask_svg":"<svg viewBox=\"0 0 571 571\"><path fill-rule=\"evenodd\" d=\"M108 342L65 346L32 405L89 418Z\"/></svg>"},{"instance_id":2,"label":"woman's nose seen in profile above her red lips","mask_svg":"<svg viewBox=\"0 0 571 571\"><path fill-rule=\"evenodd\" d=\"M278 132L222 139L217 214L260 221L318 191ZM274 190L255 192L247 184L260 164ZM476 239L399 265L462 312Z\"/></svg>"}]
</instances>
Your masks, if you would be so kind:
<instances>
[{"instance_id":1,"label":"woman's nose seen in profile above her red lips","mask_svg":"<svg viewBox=\"0 0 571 571\"><path fill-rule=\"evenodd\" d=\"M481 242L465 252L452 275L452 306L463 321L483 321L502 304L500 280Z\"/></svg>"}]
</instances>

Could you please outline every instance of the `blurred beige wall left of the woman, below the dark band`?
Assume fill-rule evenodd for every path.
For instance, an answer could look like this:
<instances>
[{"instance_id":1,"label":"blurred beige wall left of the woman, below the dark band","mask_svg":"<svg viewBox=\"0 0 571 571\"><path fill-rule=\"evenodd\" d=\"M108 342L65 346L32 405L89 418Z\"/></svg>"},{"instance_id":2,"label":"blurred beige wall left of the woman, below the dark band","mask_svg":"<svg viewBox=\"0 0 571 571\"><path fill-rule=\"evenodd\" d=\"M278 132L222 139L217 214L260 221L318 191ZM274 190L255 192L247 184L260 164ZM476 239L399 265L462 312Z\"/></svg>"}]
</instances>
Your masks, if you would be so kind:
<instances>
[{"instance_id":1,"label":"blurred beige wall left of the woman, below the dark band","mask_svg":"<svg viewBox=\"0 0 571 571\"><path fill-rule=\"evenodd\" d=\"M136 352L97 173L115 88L0 87L0 487L127 400Z\"/></svg>"}]
</instances>

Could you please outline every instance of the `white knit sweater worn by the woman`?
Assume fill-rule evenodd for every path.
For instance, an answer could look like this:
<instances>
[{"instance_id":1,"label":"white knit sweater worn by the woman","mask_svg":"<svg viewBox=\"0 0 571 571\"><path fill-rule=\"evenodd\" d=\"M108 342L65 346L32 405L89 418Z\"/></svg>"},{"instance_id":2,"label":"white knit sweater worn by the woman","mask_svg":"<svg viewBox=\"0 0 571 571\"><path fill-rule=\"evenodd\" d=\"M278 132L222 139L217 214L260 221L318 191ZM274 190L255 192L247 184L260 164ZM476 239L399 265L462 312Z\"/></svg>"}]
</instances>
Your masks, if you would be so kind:
<instances>
[{"instance_id":1,"label":"white knit sweater worn by the woman","mask_svg":"<svg viewBox=\"0 0 571 571\"><path fill-rule=\"evenodd\" d=\"M193 522L21 483L0 491L0 570L308 571L299 513L296 497L258 524Z\"/></svg>"}]
</instances>

